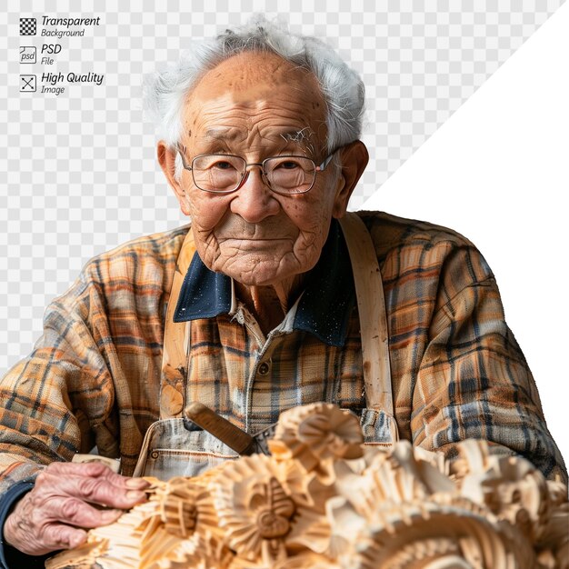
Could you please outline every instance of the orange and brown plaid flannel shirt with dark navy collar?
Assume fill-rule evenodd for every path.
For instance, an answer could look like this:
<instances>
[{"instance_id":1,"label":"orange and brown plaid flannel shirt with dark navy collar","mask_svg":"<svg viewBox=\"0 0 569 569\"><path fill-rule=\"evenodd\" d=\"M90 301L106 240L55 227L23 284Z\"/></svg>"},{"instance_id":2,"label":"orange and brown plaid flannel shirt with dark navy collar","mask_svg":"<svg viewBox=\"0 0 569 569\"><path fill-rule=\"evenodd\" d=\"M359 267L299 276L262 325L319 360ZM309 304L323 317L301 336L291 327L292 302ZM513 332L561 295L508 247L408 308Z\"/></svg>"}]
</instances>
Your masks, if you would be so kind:
<instances>
[{"instance_id":1,"label":"orange and brown plaid flannel shirt with dark navy collar","mask_svg":"<svg viewBox=\"0 0 569 569\"><path fill-rule=\"evenodd\" d=\"M566 480L483 256L443 227L360 215L384 280L400 435L450 456L457 441L482 438ZM95 444L122 459L124 474L133 472L145 431L159 418L165 308L188 228L96 256L48 306L34 351L0 383L0 491ZM335 222L304 294L268 337L235 299L231 280L194 261L177 306L192 320L188 401L252 433L292 405L362 410L353 280Z\"/></svg>"}]
</instances>

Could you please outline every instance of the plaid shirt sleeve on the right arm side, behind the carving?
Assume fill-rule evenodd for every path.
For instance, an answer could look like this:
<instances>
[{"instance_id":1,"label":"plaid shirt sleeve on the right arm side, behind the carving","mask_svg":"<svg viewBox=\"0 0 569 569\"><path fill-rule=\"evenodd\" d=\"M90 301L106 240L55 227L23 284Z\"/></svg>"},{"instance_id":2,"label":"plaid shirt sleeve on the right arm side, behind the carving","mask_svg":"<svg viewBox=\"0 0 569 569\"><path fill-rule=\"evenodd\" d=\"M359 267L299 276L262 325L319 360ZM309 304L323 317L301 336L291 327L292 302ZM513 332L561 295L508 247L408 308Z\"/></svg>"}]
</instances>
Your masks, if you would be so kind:
<instances>
[{"instance_id":1,"label":"plaid shirt sleeve on the right arm side, behind the carving","mask_svg":"<svg viewBox=\"0 0 569 569\"><path fill-rule=\"evenodd\" d=\"M459 441L484 439L494 453L522 454L566 483L534 377L484 266L472 246L457 247L444 262L414 388L414 443L452 458Z\"/></svg>"}]
</instances>

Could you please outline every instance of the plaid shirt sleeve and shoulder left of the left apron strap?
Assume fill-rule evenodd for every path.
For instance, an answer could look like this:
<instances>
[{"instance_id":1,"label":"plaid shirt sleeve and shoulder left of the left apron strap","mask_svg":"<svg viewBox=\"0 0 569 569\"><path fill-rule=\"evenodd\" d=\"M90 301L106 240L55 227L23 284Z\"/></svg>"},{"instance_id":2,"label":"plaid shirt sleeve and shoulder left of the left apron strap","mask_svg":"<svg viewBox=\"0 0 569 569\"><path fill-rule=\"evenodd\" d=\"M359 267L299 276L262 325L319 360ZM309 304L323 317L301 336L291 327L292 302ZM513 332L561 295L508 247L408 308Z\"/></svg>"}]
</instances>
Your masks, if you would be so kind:
<instances>
[{"instance_id":1,"label":"plaid shirt sleeve and shoulder left of the left apron strap","mask_svg":"<svg viewBox=\"0 0 569 569\"><path fill-rule=\"evenodd\" d=\"M95 445L133 473L159 415L166 291L187 230L93 257L49 304L34 350L0 380L0 493Z\"/></svg>"}]
</instances>

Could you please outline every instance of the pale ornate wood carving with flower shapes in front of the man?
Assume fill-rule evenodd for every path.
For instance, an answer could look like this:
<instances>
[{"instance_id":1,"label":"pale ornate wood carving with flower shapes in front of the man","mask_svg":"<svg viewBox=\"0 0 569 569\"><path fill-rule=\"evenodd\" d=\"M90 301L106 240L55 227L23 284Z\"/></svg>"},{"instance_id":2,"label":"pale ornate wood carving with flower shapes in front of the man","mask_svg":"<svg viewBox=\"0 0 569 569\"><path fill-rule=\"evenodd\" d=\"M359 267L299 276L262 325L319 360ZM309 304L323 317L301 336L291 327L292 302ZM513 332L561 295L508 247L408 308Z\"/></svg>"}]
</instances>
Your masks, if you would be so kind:
<instances>
[{"instance_id":1,"label":"pale ornate wood carving with flower shapes in front of the man","mask_svg":"<svg viewBox=\"0 0 569 569\"><path fill-rule=\"evenodd\" d=\"M567 487L484 441L454 462L365 446L354 415L281 415L271 456L152 480L148 501L48 569L569 569Z\"/></svg>"}]
</instances>

